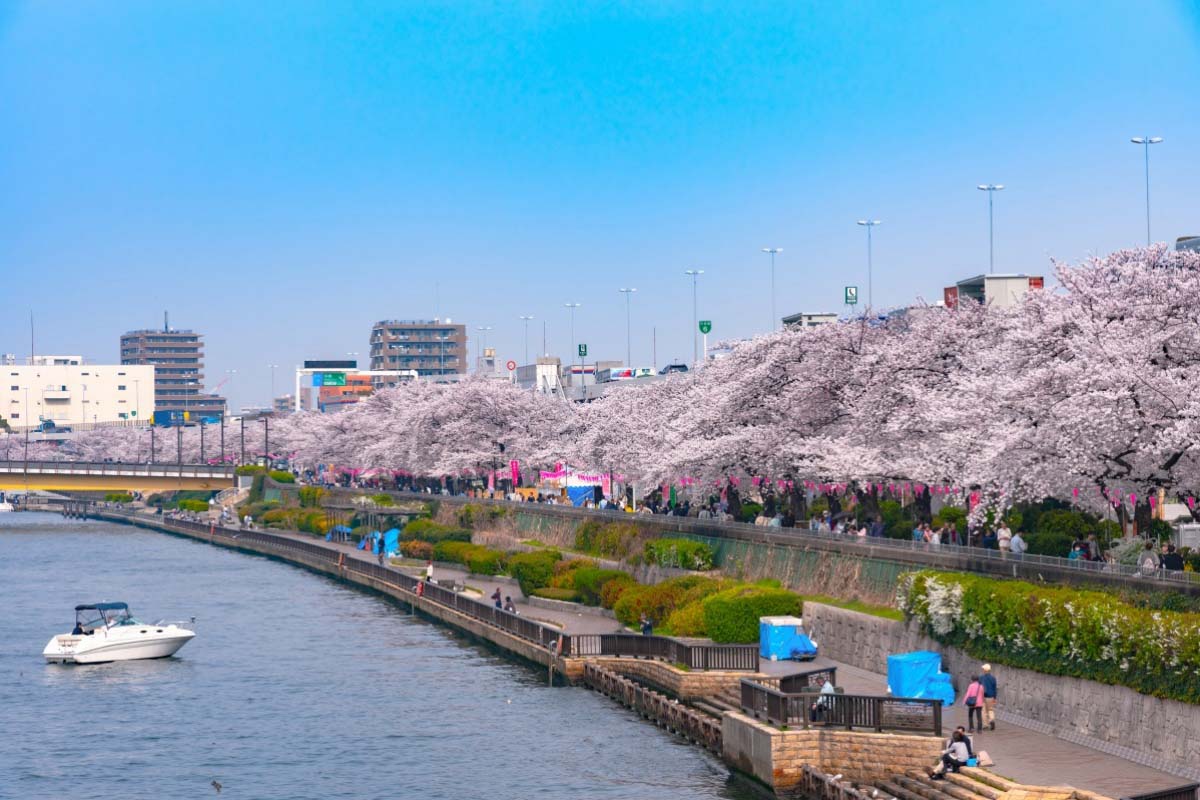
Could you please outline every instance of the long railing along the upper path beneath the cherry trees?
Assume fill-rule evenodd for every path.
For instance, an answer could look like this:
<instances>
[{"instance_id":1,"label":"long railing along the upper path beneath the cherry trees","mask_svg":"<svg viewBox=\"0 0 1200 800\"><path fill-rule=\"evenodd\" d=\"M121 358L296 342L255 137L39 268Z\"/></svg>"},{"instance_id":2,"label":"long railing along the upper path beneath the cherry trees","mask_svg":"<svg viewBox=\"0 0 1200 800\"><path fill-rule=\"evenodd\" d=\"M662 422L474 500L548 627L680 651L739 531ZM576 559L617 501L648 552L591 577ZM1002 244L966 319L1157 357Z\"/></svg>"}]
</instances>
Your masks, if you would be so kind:
<instances>
[{"instance_id":1,"label":"long railing along the upper path beneath the cherry trees","mask_svg":"<svg viewBox=\"0 0 1200 800\"><path fill-rule=\"evenodd\" d=\"M1033 555L1030 553L1013 555L1012 553L973 545L932 545L904 539L821 533L809 530L808 528L772 528L744 522L718 522L694 517L630 515L619 510L512 503L510 500L468 498L463 495L421 494L419 492L400 492L395 494L406 498L424 499L426 501L438 500L439 503L503 505L530 513L571 519L623 519L671 533L692 534L713 539L732 539L784 547L796 547L798 545L814 546L868 558L892 559L938 569L1001 575L1014 578L1074 578L1093 579L1100 583L1136 582L1142 585L1160 583L1170 587L1187 587L1200 590L1200 572L1171 572L1162 569L1144 571L1141 567L1127 564L1087 561L1084 559Z\"/></svg>"}]
</instances>

